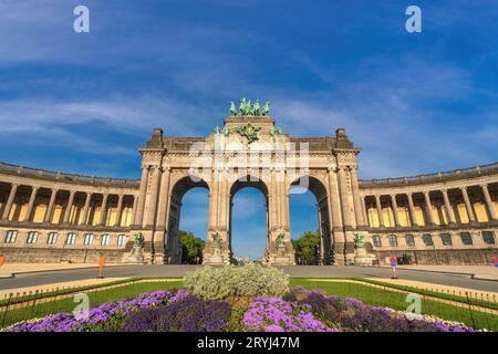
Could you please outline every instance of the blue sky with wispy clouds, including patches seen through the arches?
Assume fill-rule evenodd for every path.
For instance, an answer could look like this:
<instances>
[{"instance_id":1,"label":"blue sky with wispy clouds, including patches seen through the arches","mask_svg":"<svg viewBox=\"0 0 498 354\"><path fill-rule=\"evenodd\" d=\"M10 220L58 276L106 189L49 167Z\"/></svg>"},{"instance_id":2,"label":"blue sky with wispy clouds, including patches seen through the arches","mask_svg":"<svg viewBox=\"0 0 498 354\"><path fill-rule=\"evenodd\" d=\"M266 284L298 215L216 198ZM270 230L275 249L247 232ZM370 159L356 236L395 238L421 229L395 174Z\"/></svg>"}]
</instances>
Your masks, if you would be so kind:
<instances>
[{"instance_id":1,"label":"blue sky with wispy clouds, including patches seen through the arches","mask_svg":"<svg viewBox=\"0 0 498 354\"><path fill-rule=\"evenodd\" d=\"M77 4L90 33L72 30ZM409 4L422 9L419 34L405 31ZM0 159L137 178L136 148L154 127L203 136L247 96L271 101L297 136L345 127L363 148L362 178L492 163L497 20L490 0L2 0ZM260 205L236 231L261 250L263 201L236 198ZM300 198L295 235L317 225L313 198Z\"/></svg>"}]
</instances>

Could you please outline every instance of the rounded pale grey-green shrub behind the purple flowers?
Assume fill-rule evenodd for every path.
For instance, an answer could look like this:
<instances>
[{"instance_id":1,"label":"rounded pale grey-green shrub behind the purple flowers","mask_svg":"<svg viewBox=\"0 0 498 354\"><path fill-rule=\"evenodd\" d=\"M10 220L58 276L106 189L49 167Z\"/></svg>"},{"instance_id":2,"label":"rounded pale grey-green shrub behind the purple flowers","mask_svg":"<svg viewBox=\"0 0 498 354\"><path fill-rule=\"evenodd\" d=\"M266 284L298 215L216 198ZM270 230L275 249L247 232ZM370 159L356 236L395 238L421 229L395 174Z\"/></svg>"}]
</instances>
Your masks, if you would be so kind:
<instances>
[{"instance_id":1,"label":"rounded pale grey-green shrub behind the purple flowers","mask_svg":"<svg viewBox=\"0 0 498 354\"><path fill-rule=\"evenodd\" d=\"M203 267L184 277L187 290L201 299L230 300L282 296L289 292L289 275L283 271L251 263L243 267Z\"/></svg>"}]
</instances>

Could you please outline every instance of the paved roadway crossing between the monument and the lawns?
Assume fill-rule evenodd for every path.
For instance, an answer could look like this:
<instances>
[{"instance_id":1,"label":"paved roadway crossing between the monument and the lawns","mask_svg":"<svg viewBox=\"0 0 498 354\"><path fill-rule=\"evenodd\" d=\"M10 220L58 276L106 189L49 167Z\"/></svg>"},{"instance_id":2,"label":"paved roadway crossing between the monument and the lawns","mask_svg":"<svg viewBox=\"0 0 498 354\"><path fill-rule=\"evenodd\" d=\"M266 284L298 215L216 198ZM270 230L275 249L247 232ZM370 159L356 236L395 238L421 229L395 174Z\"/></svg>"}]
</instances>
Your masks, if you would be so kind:
<instances>
[{"instance_id":1,"label":"paved roadway crossing between the monument and the lawns","mask_svg":"<svg viewBox=\"0 0 498 354\"><path fill-rule=\"evenodd\" d=\"M114 266L106 268L106 278L132 277L183 277L186 271L197 266ZM281 267L291 277L301 278L391 278L387 268L363 268L353 266L297 266ZM56 271L42 271L34 273L17 274L12 279L0 279L0 290L54 284L66 281L93 279L97 275L97 268L70 269ZM470 274L444 273L435 271L422 271L398 269L400 279L419 281L430 284L443 284L480 291L498 293L498 281L471 279Z\"/></svg>"}]
</instances>

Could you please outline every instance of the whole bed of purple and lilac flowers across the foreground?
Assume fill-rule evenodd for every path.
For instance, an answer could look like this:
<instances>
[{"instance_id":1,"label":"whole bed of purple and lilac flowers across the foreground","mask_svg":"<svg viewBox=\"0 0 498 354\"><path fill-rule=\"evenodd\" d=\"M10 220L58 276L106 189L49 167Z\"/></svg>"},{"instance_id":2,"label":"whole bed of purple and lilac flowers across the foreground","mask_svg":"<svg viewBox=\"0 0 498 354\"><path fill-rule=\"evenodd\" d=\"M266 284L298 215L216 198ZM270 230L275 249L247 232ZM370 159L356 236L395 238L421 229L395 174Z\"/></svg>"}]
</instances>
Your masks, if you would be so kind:
<instances>
[{"instance_id":1,"label":"whole bed of purple and lilac flowers across the foreground","mask_svg":"<svg viewBox=\"0 0 498 354\"><path fill-rule=\"evenodd\" d=\"M82 313L58 313L6 332L474 332L459 323L371 306L354 298L293 288L284 296L257 296L249 305L205 300L186 290L156 291L104 303Z\"/></svg>"}]
</instances>

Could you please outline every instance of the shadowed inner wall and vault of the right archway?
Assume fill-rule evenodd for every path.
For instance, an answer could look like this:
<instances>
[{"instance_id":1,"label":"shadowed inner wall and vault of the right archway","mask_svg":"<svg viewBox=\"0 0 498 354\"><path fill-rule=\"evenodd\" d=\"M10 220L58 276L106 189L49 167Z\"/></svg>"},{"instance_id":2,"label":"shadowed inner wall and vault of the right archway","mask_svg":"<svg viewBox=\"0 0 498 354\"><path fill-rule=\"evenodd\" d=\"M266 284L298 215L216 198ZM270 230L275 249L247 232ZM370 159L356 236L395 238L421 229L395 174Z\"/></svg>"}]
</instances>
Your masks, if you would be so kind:
<instances>
[{"instance_id":1,"label":"shadowed inner wall and vault of the right archway","mask_svg":"<svg viewBox=\"0 0 498 354\"><path fill-rule=\"evenodd\" d=\"M305 189L313 194L317 200L317 211L320 233L320 263L332 263L332 225L330 221L329 190L326 184L318 176L303 175L294 178L288 188L289 195L292 189ZM291 230L292 231L292 230Z\"/></svg>"}]
</instances>

